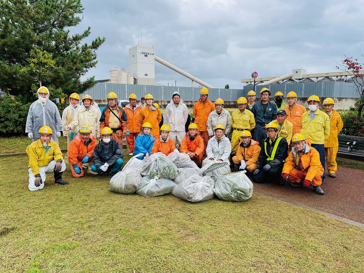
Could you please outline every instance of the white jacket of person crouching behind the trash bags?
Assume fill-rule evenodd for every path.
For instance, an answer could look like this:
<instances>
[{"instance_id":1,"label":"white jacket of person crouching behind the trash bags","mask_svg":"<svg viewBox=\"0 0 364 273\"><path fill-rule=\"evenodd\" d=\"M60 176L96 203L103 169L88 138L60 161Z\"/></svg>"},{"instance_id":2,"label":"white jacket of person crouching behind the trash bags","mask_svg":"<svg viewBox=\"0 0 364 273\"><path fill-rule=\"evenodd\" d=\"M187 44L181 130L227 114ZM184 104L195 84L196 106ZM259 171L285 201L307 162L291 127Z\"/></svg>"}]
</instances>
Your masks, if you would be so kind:
<instances>
[{"instance_id":1,"label":"white jacket of person crouching behind the trash bags","mask_svg":"<svg viewBox=\"0 0 364 273\"><path fill-rule=\"evenodd\" d=\"M229 162L229 155L231 153L231 143L229 138L222 136L222 140L220 143L217 143L217 138L214 136L210 138L209 142L207 142L206 154L208 159L211 157L214 160L221 159L224 162Z\"/></svg>"}]
</instances>

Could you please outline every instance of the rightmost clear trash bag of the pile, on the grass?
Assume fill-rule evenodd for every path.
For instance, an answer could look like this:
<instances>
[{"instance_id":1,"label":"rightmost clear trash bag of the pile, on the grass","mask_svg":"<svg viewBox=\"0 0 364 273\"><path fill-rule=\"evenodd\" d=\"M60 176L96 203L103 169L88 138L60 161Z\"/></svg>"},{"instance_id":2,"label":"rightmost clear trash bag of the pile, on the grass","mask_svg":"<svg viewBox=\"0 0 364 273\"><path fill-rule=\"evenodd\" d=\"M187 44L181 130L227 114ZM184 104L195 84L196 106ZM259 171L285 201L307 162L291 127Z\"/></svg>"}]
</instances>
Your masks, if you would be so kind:
<instances>
[{"instance_id":1,"label":"rightmost clear trash bag of the pile, on the grass","mask_svg":"<svg viewBox=\"0 0 364 273\"><path fill-rule=\"evenodd\" d=\"M253 195L253 183L243 171L221 175L215 182L214 193L224 201L246 201Z\"/></svg>"}]
</instances>

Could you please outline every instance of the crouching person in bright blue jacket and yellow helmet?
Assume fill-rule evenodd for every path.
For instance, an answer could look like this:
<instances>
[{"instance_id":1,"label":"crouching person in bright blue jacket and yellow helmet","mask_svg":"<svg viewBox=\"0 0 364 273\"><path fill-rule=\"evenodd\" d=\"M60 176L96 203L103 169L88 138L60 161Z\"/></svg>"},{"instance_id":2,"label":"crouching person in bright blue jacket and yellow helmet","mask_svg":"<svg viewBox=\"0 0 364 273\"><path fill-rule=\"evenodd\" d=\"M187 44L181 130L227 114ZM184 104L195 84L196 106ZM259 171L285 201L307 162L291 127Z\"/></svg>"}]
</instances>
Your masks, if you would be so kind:
<instances>
[{"instance_id":1,"label":"crouching person in bright blue jacket and yellow helmet","mask_svg":"<svg viewBox=\"0 0 364 273\"><path fill-rule=\"evenodd\" d=\"M152 126L149 122L145 122L142 126L142 133L135 139L135 149L133 155L143 154L138 159L150 156L155 138L150 134Z\"/></svg>"}]
</instances>

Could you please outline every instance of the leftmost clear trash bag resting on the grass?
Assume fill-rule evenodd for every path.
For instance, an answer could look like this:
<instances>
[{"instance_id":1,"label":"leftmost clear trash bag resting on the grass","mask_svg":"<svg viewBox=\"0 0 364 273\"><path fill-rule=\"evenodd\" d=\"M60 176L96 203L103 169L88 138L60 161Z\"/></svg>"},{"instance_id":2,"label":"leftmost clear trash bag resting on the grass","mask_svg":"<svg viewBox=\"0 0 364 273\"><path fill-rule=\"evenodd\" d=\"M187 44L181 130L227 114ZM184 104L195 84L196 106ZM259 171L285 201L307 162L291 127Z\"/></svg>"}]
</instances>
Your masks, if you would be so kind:
<instances>
[{"instance_id":1,"label":"leftmost clear trash bag resting on the grass","mask_svg":"<svg viewBox=\"0 0 364 273\"><path fill-rule=\"evenodd\" d=\"M142 176L139 169L123 169L110 179L109 190L114 193L133 194L137 191L138 183L141 179Z\"/></svg>"}]
</instances>

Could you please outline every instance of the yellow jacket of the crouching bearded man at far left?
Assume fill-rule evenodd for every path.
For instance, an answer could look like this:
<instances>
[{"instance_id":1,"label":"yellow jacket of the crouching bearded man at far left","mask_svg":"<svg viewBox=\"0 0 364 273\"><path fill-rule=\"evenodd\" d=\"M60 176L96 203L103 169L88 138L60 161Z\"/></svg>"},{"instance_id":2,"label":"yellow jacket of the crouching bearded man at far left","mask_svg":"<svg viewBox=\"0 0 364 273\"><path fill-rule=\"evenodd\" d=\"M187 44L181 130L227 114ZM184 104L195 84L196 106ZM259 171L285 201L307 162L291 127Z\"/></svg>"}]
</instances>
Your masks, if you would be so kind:
<instances>
[{"instance_id":1,"label":"yellow jacket of the crouching bearded man at far left","mask_svg":"<svg viewBox=\"0 0 364 273\"><path fill-rule=\"evenodd\" d=\"M59 149L57 142L50 141L47 148L43 147L40 139L31 143L27 147L29 157L29 167L32 169L34 176L39 174L39 167L47 166L52 160L63 160L63 154Z\"/></svg>"}]
</instances>

